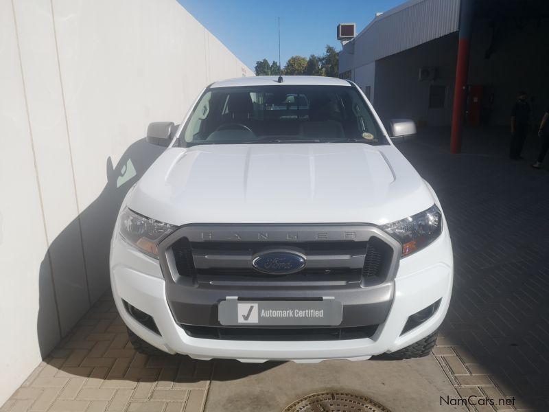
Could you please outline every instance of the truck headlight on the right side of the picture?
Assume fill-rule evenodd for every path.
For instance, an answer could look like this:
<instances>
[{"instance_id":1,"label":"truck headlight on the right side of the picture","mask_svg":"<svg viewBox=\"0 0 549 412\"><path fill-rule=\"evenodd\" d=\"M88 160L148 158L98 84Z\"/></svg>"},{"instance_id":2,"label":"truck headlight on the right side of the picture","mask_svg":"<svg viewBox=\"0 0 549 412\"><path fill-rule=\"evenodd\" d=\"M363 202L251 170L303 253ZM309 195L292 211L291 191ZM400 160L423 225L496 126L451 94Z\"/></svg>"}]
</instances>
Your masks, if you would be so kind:
<instances>
[{"instance_id":1,"label":"truck headlight on the right side of the picture","mask_svg":"<svg viewBox=\"0 0 549 412\"><path fill-rule=\"evenodd\" d=\"M442 231L442 213L436 205L408 218L387 223L382 229L402 244L402 257L417 252L433 240Z\"/></svg>"}]
</instances>

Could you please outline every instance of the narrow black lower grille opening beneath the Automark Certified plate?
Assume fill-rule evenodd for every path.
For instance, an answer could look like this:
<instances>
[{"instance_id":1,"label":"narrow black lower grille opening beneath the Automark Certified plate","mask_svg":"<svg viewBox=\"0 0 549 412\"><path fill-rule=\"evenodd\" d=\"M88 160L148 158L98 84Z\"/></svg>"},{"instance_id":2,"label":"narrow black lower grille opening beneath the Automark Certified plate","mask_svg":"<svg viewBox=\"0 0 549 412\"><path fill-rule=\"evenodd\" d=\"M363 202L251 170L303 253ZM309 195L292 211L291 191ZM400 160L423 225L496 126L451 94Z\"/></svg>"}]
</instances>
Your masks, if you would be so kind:
<instances>
[{"instance_id":1,"label":"narrow black lower grille opening beneath the Automark Certified plate","mask_svg":"<svg viewBox=\"0 0 549 412\"><path fill-rule=\"evenodd\" d=\"M180 325L194 338L226 341L344 341L365 339L375 334L378 325L349 328L223 328Z\"/></svg>"}]
</instances>

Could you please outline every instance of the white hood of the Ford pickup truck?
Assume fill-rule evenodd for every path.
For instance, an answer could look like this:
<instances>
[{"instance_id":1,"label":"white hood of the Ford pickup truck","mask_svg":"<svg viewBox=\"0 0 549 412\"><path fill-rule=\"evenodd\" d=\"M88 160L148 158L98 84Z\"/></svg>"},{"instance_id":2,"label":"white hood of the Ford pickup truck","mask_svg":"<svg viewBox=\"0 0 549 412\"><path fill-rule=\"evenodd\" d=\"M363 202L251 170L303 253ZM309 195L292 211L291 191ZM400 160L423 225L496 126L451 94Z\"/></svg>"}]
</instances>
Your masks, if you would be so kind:
<instances>
[{"instance_id":1,"label":"white hood of the Ford pickup truck","mask_svg":"<svg viewBox=\"0 0 549 412\"><path fill-rule=\"evenodd\" d=\"M383 224L434 198L394 146L232 144L170 148L128 196L156 220Z\"/></svg>"}]
</instances>

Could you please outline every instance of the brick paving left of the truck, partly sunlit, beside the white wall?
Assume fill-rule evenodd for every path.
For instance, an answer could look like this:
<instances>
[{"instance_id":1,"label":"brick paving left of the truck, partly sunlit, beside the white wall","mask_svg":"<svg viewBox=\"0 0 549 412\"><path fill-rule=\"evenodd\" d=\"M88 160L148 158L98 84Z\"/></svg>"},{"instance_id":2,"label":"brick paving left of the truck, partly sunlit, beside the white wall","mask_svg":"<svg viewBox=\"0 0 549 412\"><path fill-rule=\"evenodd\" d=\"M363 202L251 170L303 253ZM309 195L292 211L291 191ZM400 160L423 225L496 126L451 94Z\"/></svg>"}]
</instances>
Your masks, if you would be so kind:
<instances>
[{"instance_id":1,"label":"brick paving left of the truck, partly sunlit, beside the white wall","mask_svg":"<svg viewBox=\"0 0 549 412\"><path fill-rule=\"evenodd\" d=\"M137 354L109 291L0 411L199 412L212 367Z\"/></svg>"}]
</instances>

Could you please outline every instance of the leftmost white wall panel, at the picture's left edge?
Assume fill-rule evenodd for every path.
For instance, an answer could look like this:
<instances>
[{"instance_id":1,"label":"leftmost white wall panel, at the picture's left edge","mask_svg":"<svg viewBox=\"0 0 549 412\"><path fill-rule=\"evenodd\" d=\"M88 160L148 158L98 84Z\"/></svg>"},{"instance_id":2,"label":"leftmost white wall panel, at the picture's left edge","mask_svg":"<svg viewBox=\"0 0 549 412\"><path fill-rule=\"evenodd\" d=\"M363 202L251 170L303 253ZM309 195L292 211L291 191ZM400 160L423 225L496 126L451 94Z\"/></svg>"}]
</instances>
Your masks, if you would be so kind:
<instances>
[{"instance_id":1,"label":"leftmost white wall panel, at the picture's left edge","mask_svg":"<svg viewBox=\"0 0 549 412\"><path fill-rule=\"evenodd\" d=\"M0 404L38 365L38 334L50 349L60 338L16 33L0 0Z\"/></svg>"}]
</instances>

